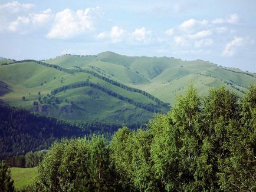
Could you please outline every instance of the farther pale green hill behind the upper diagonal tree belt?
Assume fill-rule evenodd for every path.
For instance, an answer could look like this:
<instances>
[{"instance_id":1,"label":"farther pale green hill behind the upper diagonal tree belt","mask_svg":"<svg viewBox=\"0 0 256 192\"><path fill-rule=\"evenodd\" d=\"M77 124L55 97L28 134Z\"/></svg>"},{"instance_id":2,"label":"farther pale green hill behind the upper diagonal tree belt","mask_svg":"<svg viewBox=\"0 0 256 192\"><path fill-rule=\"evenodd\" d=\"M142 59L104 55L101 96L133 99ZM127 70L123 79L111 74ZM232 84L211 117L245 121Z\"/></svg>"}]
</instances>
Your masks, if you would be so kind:
<instances>
[{"instance_id":1,"label":"farther pale green hill behind the upper diagonal tree belt","mask_svg":"<svg viewBox=\"0 0 256 192\"><path fill-rule=\"evenodd\" d=\"M87 57L63 55L45 62L68 68L76 65L103 72L112 76L113 80L149 92L171 105L175 103L177 95L185 92L188 82L193 81L200 95L207 94L211 87L223 84L242 95L250 84L256 83L255 73L225 68L199 59L182 61L168 57L127 57L114 52L103 52Z\"/></svg>"}]
</instances>

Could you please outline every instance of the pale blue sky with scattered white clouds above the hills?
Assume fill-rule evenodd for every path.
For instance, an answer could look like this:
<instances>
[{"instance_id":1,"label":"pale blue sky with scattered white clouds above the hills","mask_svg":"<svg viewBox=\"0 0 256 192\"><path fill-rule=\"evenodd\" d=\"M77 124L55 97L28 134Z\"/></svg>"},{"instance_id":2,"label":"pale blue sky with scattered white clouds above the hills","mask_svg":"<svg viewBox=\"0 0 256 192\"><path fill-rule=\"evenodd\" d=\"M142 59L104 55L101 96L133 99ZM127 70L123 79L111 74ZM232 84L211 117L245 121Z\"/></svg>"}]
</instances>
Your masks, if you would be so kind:
<instances>
[{"instance_id":1,"label":"pale blue sky with scattered white clouds above the hills","mask_svg":"<svg viewBox=\"0 0 256 192\"><path fill-rule=\"evenodd\" d=\"M256 72L254 0L0 0L0 56L203 59Z\"/></svg>"}]
</instances>

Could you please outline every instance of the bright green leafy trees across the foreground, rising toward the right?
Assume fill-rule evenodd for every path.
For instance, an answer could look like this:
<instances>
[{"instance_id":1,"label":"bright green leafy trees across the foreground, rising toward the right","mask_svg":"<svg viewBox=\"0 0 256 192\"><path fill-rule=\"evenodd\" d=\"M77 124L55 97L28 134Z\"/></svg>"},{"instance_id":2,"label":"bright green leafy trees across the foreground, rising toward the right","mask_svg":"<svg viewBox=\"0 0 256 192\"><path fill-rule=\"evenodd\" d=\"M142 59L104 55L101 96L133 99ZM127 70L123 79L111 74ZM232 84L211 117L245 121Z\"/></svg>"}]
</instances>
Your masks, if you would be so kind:
<instances>
[{"instance_id":1,"label":"bright green leafy trees across the foreground, rising toward the right","mask_svg":"<svg viewBox=\"0 0 256 192\"><path fill-rule=\"evenodd\" d=\"M256 86L191 85L146 129L54 143L28 191L255 191Z\"/></svg>"}]
</instances>

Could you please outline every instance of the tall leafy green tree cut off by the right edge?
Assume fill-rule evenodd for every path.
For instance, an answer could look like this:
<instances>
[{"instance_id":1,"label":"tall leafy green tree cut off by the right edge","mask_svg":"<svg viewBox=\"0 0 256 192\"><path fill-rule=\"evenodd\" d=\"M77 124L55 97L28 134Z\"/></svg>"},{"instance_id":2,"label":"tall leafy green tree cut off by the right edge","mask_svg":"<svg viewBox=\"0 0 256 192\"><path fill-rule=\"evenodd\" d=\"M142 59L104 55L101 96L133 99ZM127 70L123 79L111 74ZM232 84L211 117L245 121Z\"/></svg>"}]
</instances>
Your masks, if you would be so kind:
<instances>
[{"instance_id":1,"label":"tall leafy green tree cut off by the right edge","mask_svg":"<svg viewBox=\"0 0 256 192\"><path fill-rule=\"evenodd\" d=\"M241 118L229 124L225 147L227 158L221 161L219 183L226 191L256 190L256 86L251 85L242 98Z\"/></svg>"}]
</instances>

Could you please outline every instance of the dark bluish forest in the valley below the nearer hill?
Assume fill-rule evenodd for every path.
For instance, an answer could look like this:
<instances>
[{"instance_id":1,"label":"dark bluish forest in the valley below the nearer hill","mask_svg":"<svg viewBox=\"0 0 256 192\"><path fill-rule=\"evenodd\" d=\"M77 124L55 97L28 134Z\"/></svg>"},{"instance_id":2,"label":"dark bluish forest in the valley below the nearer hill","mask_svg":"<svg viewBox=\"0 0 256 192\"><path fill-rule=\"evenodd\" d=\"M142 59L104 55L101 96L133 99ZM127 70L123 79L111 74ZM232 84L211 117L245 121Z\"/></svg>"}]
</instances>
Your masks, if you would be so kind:
<instances>
[{"instance_id":1,"label":"dark bluish forest in the valley below the nearer hill","mask_svg":"<svg viewBox=\"0 0 256 192\"><path fill-rule=\"evenodd\" d=\"M129 125L130 128L137 126ZM9 160L12 162L10 165L24 167L25 157L22 155L29 151L47 149L55 140L84 137L93 133L104 133L109 140L120 127L122 125L59 120L1 103L0 160Z\"/></svg>"}]
</instances>

